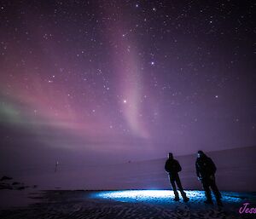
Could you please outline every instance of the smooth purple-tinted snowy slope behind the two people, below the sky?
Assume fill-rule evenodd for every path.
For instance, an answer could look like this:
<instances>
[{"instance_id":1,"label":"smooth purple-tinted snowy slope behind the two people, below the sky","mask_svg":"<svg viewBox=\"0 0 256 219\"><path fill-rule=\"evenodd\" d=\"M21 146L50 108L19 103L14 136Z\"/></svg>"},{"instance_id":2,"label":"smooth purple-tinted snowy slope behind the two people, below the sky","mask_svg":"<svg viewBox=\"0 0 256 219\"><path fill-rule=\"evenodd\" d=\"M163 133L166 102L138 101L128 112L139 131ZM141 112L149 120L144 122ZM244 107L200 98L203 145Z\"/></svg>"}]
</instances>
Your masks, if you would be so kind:
<instances>
[{"instance_id":1,"label":"smooth purple-tinted snowy slope behind the two people, below the sky","mask_svg":"<svg viewBox=\"0 0 256 219\"><path fill-rule=\"evenodd\" d=\"M256 172L256 147L207 154L218 168L216 179L220 190L256 191L256 176L253 174ZM176 158L183 168L180 172L183 187L201 189L201 183L195 175L196 154ZM67 190L169 189L171 186L164 170L165 162L166 158L99 166L60 163L56 172L53 164L44 169L35 167L15 173L3 171L2 175L10 175L15 181L24 182L27 186L38 185L41 190L57 187Z\"/></svg>"}]
</instances>

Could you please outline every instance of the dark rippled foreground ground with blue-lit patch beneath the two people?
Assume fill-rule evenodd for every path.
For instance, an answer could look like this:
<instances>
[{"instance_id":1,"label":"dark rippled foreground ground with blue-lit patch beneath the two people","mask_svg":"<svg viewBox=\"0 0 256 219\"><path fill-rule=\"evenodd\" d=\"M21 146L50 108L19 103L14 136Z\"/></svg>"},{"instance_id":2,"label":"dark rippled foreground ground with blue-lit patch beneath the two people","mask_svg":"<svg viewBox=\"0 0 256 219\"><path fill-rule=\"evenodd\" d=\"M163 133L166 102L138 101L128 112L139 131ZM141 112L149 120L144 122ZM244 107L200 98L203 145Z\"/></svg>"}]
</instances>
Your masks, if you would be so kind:
<instances>
[{"instance_id":1,"label":"dark rippled foreground ground with blue-lit patch beneath the two people","mask_svg":"<svg viewBox=\"0 0 256 219\"><path fill-rule=\"evenodd\" d=\"M189 203L173 201L170 190L38 192L37 203L1 210L0 218L255 218L238 212L246 202L255 207L255 193L223 192L224 207L205 205L202 191L187 193Z\"/></svg>"}]
</instances>

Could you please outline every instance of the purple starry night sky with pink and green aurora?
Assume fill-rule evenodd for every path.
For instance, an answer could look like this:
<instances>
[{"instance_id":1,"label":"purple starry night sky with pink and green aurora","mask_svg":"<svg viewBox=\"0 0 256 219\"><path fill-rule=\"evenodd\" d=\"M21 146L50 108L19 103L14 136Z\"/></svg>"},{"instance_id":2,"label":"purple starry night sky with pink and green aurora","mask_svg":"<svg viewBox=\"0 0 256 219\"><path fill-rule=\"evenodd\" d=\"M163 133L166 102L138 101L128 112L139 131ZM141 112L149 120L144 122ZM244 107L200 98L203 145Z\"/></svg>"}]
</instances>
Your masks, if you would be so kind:
<instances>
[{"instance_id":1,"label":"purple starry night sky with pink and green aurora","mask_svg":"<svg viewBox=\"0 0 256 219\"><path fill-rule=\"evenodd\" d=\"M2 165L255 145L253 11L253 1L1 1Z\"/></svg>"}]
</instances>

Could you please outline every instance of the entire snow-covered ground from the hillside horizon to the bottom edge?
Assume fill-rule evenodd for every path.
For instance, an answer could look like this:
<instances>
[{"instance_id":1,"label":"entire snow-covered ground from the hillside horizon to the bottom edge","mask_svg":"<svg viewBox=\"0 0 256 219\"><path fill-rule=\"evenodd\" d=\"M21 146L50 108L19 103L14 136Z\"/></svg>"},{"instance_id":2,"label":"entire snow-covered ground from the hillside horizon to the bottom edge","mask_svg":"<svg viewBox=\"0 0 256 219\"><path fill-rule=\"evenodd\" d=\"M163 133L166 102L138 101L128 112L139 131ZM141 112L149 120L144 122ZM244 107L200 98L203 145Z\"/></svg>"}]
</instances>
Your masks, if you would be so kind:
<instances>
[{"instance_id":1,"label":"entire snow-covered ground from the hillside horizon to the bottom edge","mask_svg":"<svg viewBox=\"0 0 256 219\"><path fill-rule=\"evenodd\" d=\"M10 175L12 181L3 181L28 187L0 190L0 218L256 218L255 214L238 213L245 203L256 207L255 152L256 147L244 147L207 153L217 165L219 189L235 191L222 192L222 208L203 203L192 154L177 157L190 198L187 204L174 202L172 191L166 190L171 187L164 170L166 158L105 166L60 164L56 172L52 167L19 170ZM8 171L3 174L9 176ZM50 191L41 192L45 189Z\"/></svg>"}]
</instances>

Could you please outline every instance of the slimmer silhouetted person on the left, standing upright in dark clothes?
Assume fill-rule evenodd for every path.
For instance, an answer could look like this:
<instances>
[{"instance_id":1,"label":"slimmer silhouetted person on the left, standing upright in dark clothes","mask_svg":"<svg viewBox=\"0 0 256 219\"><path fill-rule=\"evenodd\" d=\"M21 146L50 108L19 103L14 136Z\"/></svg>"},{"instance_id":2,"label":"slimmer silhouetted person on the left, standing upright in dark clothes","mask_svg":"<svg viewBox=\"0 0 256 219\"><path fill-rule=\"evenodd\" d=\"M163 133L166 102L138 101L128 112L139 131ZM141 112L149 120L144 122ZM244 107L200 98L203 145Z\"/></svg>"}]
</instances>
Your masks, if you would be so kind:
<instances>
[{"instance_id":1,"label":"slimmer silhouetted person on the left, standing upright in dark clothes","mask_svg":"<svg viewBox=\"0 0 256 219\"><path fill-rule=\"evenodd\" d=\"M178 176L178 172L180 172L182 170L182 168L181 168L180 164L177 162L177 160L173 158L172 153L169 153L169 157L166 160L165 169L166 169L166 172L169 173L170 182L172 184L173 193L175 195L174 200L176 200L176 201L179 200L179 196L178 196L177 188L176 188L176 184L177 184L177 187L183 197L184 202L189 201L189 198L186 196L186 193L183 191L183 186L182 186L179 176Z\"/></svg>"}]
</instances>

